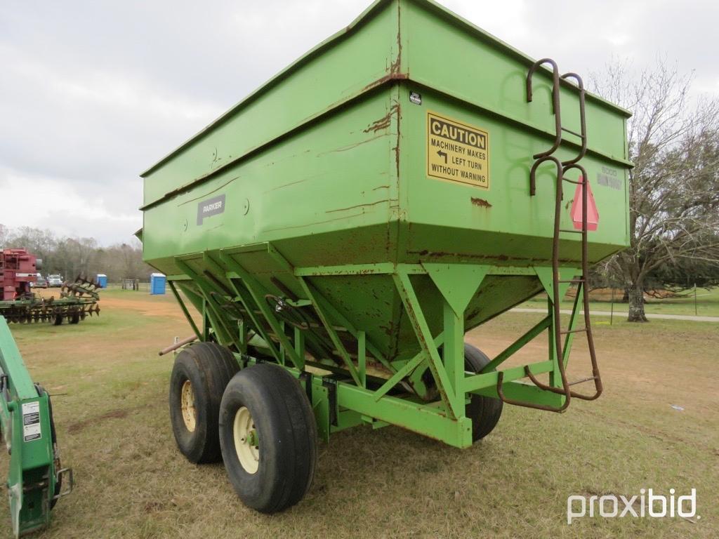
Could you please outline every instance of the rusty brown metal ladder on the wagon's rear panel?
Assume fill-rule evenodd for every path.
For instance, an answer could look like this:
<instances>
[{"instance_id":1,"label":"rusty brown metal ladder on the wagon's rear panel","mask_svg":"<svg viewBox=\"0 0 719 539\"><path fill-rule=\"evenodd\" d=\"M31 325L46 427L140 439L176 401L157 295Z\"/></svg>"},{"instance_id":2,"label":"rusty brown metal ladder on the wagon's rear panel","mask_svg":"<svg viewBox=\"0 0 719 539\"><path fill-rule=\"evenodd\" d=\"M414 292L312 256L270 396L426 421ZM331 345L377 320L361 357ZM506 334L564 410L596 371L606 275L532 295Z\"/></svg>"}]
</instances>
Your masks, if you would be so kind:
<instances>
[{"instance_id":1,"label":"rusty brown metal ladder on the wagon's rear panel","mask_svg":"<svg viewBox=\"0 0 719 539\"><path fill-rule=\"evenodd\" d=\"M552 69L552 91L551 91L551 98L552 98L552 113L554 114L554 129L555 129L555 137L554 137L554 144L552 144L551 148L548 149L546 152L541 152L536 155L533 155L533 159L535 160L531 170L529 172L529 194L531 196L536 195L536 170L539 168L540 165L542 165L545 162L553 162L554 165L557 167L557 193L555 197L555 204L554 204L554 237L552 242L552 252L551 252L551 268L552 268L552 306L554 309L554 323L552 324L552 338L554 339L554 350L557 354L557 363L559 367L559 376L562 379L562 387L552 387L550 385L544 384L543 382L540 382L536 377L532 374L528 366L524 367L524 372L526 374L526 377L531 379L533 384L536 385L536 387L539 387L541 390L557 393L559 395L564 395L564 404L559 407L549 406L549 405L539 405L535 404L533 402L524 402L521 400L513 400L508 399L503 394L502 390L502 384L503 384L503 376L502 372L499 372L498 374L498 383L497 383L497 394L500 397L500 399L503 402L507 402L508 404L518 405L518 406L524 406L524 407L530 407L530 408L536 408L539 410L548 410L551 412L563 412L567 409L569 406L569 402L572 399L572 397L582 400L595 400L597 399L601 394L603 390L602 385L602 379L600 377L599 367L597 366L597 354L595 352L594 347L594 338L592 336L592 327L590 324L590 313L589 313L589 289L588 289L588 278L589 278L589 254L588 254L588 244L587 244L587 203L588 203L588 197L589 197L589 176L587 175L587 171L585 170L582 165L579 164L580 160L582 160L583 157L585 157L585 154L587 152L587 123L586 123L586 117L585 117L585 87L584 83L582 81L582 78L577 75L576 73L564 73L564 75L559 75L559 68L557 68L557 63L554 62L554 60L551 60L551 58L543 58L542 60L537 60L531 68L529 68L529 71L527 73L527 79L526 79L526 91L527 91L527 102L531 103L532 101L532 77L536 70L543 64L549 64L551 65ZM580 132L574 132L569 129L566 129L562 126L562 114L561 114L561 104L559 101L559 84L561 80L568 80L568 79L574 79L577 89L579 91L579 100L580 100ZM581 147L580 151L577 153L577 156L574 157L572 160L567 161L559 161L557 157L554 157L554 152L559 149L560 144L562 144L562 134L563 133L569 133L573 134L576 137L579 137L581 140ZM580 178L578 180L570 180L569 178L565 178L565 175L567 171L569 170L577 170L580 172ZM574 229L562 229L561 228L561 221L562 221L562 199L564 198L564 182L573 183L574 185L581 185L582 186L582 229L581 230L574 230ZM578 279L570 279L570 280L562 280L559 275L559 234L562 233L571 233L571 234L581 234L582 235L582 275ZM561 283L570 283L575 284L578 286L577 288L577 296L574 300L574 310L573 313L576 313L578 303L579 303L579 292L580 288L582 290L582 302L584 305L584 321L585 321L585 327L583 328L575 328L575 329L567 329L565 331L562 330L562 325L560 323L559 318L559 301L562 299L559 297L559 284ZM572 318L574 315L572 315ZM587 345L589 346L589 352L590 352L590 359L592 363L592 376L579 379L574 382L568 382L567 381L567 373L566 373L566 366L565 361L567 361L568 358L564 357L564 351L568 348L570 344L570 338L572 337L573 333L586 333L587 336ZM562 337L564 337L564 343L562 343ZM590 382L594 381L595 385L595 392L590 395L585 395L582 393L575 392L571 389L573 385L581 384L583 382Z\"/></svg>"}]
</instances>

